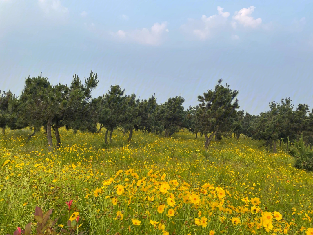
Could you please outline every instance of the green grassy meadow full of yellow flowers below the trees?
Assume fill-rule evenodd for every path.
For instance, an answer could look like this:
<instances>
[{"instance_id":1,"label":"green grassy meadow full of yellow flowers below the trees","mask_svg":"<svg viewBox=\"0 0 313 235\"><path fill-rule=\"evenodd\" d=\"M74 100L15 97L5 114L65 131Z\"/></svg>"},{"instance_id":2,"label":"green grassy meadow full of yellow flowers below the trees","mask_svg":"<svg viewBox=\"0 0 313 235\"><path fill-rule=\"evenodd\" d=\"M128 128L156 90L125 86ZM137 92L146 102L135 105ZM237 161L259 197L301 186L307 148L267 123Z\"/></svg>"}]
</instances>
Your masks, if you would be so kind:
<instances>
[{"instance_id":1,"label":"green grassy meadow full of yellow flowers below the trees","mask_svg":"<svg viewBox=\"0 0 313 235\"><path fill-rule=\"evenodd\" d=\"M115 131L107 147L105 130L61 128L51 154L43 132L25 143L30 133L0 137L0 234L36 226L36 206L53 209L57 231L79 215L86 234L313 234L313 175L280 148L231 138L206 150L186 130L130 143Z\"/></svg>"}]
</instances>

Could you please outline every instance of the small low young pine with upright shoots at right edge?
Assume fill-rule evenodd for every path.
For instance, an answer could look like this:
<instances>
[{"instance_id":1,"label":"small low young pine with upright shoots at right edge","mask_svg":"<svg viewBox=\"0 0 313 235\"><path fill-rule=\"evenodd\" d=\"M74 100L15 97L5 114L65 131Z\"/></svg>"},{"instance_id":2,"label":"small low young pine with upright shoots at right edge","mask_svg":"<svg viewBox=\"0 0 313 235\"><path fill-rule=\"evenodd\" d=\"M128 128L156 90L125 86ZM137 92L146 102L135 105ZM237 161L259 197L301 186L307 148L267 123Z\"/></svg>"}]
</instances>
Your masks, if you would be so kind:
<instances>
[{"instance_id":1,"label":"small low young pine with upright shoots at right edge","mask_svg":"<svg viewBox=\"0 0 313 235\"><path fill-rule=\"evenodd\" d=\"M286 146L286 151L291 156L295 157L295 167L313 171L313 151L305 146L302 133L300 140L295 140L293 145L290 144L289 137L287 137L287 139L288 143Z\"/></svg>"}]
</instances>

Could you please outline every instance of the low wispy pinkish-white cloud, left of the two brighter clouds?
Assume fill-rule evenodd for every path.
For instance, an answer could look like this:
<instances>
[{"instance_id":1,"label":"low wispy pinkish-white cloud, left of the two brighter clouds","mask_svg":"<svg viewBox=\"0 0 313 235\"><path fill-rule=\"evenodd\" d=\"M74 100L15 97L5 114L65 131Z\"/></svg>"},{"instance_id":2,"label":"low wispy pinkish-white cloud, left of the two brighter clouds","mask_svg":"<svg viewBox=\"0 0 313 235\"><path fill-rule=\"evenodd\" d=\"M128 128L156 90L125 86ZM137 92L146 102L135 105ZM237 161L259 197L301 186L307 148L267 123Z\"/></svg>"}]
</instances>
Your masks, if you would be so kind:
<instances>
[{"instance_id":1,"label":"low wispy pinkish-white cloud, left of the two brighter clouds","mask_svg":"<svg viewBox=\"0 0 313 235\"><path fill-rule=\"evenodd\" d=\"M158 45L163 41L164 32L168 32L167 22L162 24L155 23L151 29L143 28L131 32L119 30L116 33L110 32L110 35L120 40L134 41L140 44Z\"/></svg>"}]
</instances>

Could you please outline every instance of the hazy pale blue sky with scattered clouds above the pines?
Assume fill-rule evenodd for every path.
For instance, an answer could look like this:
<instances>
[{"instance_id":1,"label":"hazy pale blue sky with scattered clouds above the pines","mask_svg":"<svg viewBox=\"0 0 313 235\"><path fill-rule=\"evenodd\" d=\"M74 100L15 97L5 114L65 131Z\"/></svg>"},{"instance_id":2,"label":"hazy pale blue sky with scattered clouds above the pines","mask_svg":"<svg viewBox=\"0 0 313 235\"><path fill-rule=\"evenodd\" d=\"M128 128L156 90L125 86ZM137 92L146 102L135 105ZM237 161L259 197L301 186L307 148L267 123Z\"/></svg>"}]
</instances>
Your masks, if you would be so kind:
<instances>
[{"instance_id":1,"label":"hazy pale blue sky with scattered clouds above the pines","mask_svg":"<svg viewBox=\"0 0 313 235\"><path fill-rule=\"evenodd\" d=\"M285 97L313 108L312 15L311 0L0 0L0 89L93 70L94 97L119 84L187 108L222 78L253 114Z\"/></svg>"}]
</instances>

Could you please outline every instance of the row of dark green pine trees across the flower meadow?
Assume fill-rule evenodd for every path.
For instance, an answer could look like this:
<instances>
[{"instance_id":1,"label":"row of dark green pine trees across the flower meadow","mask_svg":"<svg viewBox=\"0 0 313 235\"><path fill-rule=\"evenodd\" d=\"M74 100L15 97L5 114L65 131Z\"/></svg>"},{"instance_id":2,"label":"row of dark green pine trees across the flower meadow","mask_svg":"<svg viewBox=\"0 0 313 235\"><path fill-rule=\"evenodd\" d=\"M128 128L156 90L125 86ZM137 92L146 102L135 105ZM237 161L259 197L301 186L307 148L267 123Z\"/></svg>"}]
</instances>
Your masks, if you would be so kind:
<instances>
[{"instance_id":1,"label":"row of dark green pine trees across the flower meadow","mask_svg":"<svg viewBox=\"0 0 313 235\"><path fill-rule=\"evenodd\" d=\"M112 143L112 133L120 128L129 133L133 131L164 133L170 137L181 128L205 137L208 148L213 137L215 140L226 138L252 138L264 140L266 147L273 148L286 142L297 140L303 134L305 146L313 144L313 109L309 112L307 104L299 104L294 110L289 98L280 103L271 102L268 112L251 115L239 110L237 90L218 81L214 90L208 90L198 96L198 105L183 107L181 96L168 98L158 104L153 95L140 100L135 94L126 95L118 85L112 85L108 93L98 98L91 97L91 91L98 85L97 74L81 81L76 75L70 86L51 85L48 78L30 76L25 79L22 94L17 97L11 91L3 92L0 97L0 128L31 128L33 132L28 140L42 127L47 135L48 148L58 148L61 144L59 128L73 129L74 132L89 131L99 133L105 128L105 144ZM97 124L100 128L97 129ZM53 145L52 133L56 143ZM108 141L109 138L109 141Z\"/></svg>"}]
</instances>

